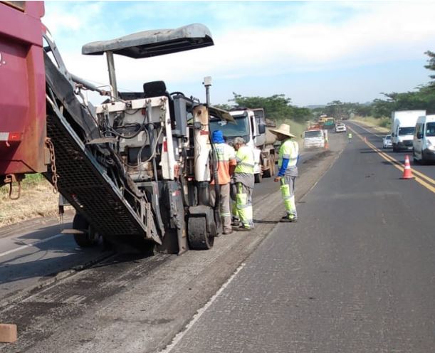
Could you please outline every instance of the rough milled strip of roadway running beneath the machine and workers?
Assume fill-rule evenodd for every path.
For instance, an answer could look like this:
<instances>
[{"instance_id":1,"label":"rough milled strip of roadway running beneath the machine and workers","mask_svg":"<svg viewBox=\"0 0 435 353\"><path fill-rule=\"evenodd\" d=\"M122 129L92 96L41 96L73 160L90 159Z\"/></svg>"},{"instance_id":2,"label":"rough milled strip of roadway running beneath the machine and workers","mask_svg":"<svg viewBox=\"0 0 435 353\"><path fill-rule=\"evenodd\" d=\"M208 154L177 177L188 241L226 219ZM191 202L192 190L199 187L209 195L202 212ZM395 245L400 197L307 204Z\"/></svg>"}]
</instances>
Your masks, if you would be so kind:
<instances>
[{"instance_id":1,"label":"rough milled strip of roadway running beneath the machine and workers","mask_svg":"<svg viewBox=\"0 0 435 353\"><path fill-rule=\"evenodd\" d=\"M299 197L327 170L341 144L337 138L332 151L301 161ZM220 237L210 251L182 256L117 255L37 290L0 310L2 322L19 327L19 340L0 344L0 350L157 352L255 251L282 214L278 184L263 179L254 191L254 232Z\"/></svg>"}]
</instances>

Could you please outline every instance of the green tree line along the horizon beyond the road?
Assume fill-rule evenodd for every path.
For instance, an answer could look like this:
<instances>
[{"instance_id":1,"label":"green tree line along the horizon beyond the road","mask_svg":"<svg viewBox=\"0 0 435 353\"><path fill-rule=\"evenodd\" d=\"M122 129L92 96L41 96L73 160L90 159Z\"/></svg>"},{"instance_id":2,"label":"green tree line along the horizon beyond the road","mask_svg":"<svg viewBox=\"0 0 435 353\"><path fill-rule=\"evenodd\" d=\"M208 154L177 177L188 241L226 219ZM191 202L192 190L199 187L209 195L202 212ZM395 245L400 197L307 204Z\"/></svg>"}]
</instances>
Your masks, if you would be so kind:
<instances>
[{"instance_id":1,"label":"green tree line along the horizon beyond the road","mask_svg":"<svg viewBox=\"0 0 435 353\"><path fill-rule=\"evenodd\" d=\"M425 68L435 73L435 52L426 51L429 56ZM257 108L262 107L266 117L277 120L294 120L305 122L315 120L320 115L327 115L337 119L347 120L355 115L362 117L390 117L394 110L426 110L428 114L435 114L435 74L429 75L431 81L426 85L420 85L416 90L405 93L382 93L384 99L375 99L365 104L357 102L341 102L333 100L324 107L309 109L296 107L291 104L291 99L285 95L272 95L271 97L245 97L233 92L234 97L229 104L217 105L225 110L235 107Z\"/></svg>"}]
</instances>

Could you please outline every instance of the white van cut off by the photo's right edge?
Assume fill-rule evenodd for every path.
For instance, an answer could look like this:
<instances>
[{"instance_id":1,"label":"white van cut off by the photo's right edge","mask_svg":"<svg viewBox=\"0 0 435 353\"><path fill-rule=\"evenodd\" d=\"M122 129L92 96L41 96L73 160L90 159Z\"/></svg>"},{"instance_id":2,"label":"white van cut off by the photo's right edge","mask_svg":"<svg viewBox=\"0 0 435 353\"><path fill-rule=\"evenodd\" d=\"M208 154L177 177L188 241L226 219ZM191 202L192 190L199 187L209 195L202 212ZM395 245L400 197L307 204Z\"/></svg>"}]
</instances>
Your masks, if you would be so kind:
<instances>
[{"instance_id":1,"label":"white van cut off by the photo's right edge","mask_svg":"<svg viewBox=\"0 0 435 353\"><path fill-rule=\"evenodd\" d=\"M424 115L417 119L413 147L414 161L435 162L435 115Z\"/></svg>"}]
</instances>

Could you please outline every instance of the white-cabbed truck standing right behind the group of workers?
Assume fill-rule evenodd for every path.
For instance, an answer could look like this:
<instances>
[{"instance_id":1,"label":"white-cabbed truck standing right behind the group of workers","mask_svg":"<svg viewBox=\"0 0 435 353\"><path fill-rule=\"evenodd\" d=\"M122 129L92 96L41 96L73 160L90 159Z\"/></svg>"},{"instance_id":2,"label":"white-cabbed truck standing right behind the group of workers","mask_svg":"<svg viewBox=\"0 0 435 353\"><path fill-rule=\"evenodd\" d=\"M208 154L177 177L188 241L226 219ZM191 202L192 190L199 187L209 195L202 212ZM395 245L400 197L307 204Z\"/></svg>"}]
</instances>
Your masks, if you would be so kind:
<instances>
[{"instance_id":1,"label":"white-cabbed truck standing right behind the group of workers","mask_svg":"<svg viewBox=\"0 0 435 353\"><path fill-rule=\"evenodd\" d=\"M243 137L246 144L254 151L254 177L260 183L263 177L275 175L275 149L273 143L276 136L268 131L268 125L263 108L248 109L237 108L230 112L234 122L211 117L210 131L221 130L226 137L226 142L231 142L235 137ZM273 125L274 126L274 125Z\"/></svg>"}]
</instances>

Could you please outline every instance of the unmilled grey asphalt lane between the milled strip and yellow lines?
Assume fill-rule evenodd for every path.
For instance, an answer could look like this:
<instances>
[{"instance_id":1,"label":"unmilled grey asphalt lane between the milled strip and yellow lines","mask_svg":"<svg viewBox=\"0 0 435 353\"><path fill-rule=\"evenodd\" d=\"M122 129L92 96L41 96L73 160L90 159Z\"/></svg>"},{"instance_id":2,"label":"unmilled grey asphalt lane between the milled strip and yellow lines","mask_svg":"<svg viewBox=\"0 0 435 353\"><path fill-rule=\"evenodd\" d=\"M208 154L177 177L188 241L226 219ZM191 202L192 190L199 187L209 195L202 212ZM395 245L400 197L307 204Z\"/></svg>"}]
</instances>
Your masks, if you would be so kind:
<instances>
[{"instance_id":1,"label":"unmilled grey asphalt lane between the milled strip and yellow lines","mask_svg":"<svg viewBox=\"0 0 435 353\"><path fill-rule=\"evenodd\" d=\"M435 350L435 195L354 138L165 353Z\"/></svg>"}]
</instances>

